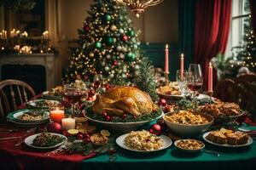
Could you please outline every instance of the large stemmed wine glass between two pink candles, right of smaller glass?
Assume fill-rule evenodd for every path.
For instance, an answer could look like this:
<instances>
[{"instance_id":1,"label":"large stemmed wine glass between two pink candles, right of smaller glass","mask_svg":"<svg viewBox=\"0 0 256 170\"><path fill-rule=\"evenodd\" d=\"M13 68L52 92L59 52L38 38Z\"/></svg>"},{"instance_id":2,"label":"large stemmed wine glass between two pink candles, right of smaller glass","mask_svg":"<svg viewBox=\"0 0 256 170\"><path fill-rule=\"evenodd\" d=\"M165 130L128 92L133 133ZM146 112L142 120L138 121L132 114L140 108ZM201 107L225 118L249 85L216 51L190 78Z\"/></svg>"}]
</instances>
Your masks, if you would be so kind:
<instances>
[{"instance_id":1,"label":"large stemmed wine glass between two pink candles, right of smaller glass","mask_svg":"<svg viewBox=\"0 0 256 170\"><path fill-rule=\"evenodd\" d=\"M201 73L201 66L197 64L190 64L188 77L187 77L187 85L188 88L193 92L192 100L194 109L196 109L196 99L195 94L202 87L203 78Z\"/></svg>"}]
</instances>

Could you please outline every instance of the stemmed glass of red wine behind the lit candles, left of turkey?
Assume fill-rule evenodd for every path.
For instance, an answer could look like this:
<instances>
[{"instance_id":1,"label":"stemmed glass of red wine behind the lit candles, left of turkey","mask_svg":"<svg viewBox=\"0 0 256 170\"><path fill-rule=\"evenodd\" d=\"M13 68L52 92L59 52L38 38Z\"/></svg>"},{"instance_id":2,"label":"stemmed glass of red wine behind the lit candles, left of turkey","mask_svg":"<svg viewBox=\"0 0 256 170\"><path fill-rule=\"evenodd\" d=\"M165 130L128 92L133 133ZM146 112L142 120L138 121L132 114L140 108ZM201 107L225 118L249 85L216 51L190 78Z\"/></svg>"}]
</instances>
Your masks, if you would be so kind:
<instances>
[{"instance_id":1,"label":"stemmed glass of red wine behind the lit candles, left of turkey","mask_svg":"<svg viewBox=\"0 0 256 170\"><path fill-rule=\"evenodd\" d=\"M71 116L75 116L75 105L86 94L86 90L75 83L64 85L64 97L65 100L71 105Z\"/></svg>"}]
</instances>

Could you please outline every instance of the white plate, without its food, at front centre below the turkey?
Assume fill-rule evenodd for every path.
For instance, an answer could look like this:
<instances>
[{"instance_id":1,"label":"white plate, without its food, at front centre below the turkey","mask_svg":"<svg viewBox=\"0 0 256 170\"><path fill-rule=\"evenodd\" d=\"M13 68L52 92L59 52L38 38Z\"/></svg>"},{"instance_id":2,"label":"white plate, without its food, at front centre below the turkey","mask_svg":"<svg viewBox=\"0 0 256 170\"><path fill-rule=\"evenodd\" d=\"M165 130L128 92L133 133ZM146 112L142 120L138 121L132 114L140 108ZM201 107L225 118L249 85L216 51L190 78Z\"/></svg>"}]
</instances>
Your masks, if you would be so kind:
<instances>
[{"instance_id":1,"label":"white plate, without its food, at front centre below the turkey","mask_svg":"<svg viewBox=\"0 0 256 170\"><path fill-rule=\"evenodd\" d=\"M148 153L148 152L154 152L154 151L160 151L160 150L165 150L166 148L168 148L169 146L172 145L172 139L168 138L165 135L160 135L159 138L163 139L164 141L164 145L159 149L159 150L132 150L131 148L127 147L125 145L125 138L126 136L128 136L129 133L123 134L121 136L119 136L119 138L117 138L115 141L116 143L121 147L124 148L125 150L131 150L131 151L136 151L136 152L140 152L140 153Z\"/></svg>"}]
</instances>

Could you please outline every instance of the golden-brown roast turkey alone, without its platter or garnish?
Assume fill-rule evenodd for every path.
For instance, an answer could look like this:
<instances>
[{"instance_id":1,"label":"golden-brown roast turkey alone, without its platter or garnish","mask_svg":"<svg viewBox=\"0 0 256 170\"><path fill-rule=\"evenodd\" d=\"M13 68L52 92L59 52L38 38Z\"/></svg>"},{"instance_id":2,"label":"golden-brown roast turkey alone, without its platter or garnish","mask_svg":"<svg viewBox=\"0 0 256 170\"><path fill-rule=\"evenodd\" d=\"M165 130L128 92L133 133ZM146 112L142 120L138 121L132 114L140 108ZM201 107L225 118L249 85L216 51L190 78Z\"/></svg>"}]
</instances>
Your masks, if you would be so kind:
<instances>
[{"instance_id":1,"label":"golden-brown roast turkey alone, without its platter or garnish","mask_svg":"<svg viewBox=\"0 0 256 170\"><path fill-rule=\"evenodd\" d=\"M138 88L120 86L108 89L92 106L92 111L96 114L106 111L116 116L141 116L152 113L154 109L154 102L147 93Z\"/></svg>"}]
</instances>

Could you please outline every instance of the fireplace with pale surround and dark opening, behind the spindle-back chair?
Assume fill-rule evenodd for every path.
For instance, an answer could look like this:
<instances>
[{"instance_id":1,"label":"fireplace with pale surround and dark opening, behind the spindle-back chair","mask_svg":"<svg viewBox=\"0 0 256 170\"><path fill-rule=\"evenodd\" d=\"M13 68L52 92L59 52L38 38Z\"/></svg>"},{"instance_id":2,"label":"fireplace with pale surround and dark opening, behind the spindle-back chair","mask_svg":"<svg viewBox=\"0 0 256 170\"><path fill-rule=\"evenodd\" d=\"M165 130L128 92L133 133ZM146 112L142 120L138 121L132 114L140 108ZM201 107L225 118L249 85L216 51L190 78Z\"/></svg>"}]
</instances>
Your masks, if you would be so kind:
<instances>
[{"instance_id":1,"label":"fireplace with pale surround and dark opening, behind the spindle-back chair","mask_svg":"<svg viewBox=\"0 0 256 170\"><path fill-rule=\"evenodd\" d=\"M10 54L0 56L0 81L18 79L27 82L36 94L55 87L55 54Z\"/></svg>"}]
</instances>

